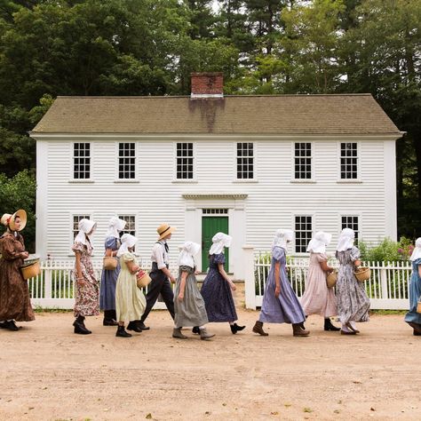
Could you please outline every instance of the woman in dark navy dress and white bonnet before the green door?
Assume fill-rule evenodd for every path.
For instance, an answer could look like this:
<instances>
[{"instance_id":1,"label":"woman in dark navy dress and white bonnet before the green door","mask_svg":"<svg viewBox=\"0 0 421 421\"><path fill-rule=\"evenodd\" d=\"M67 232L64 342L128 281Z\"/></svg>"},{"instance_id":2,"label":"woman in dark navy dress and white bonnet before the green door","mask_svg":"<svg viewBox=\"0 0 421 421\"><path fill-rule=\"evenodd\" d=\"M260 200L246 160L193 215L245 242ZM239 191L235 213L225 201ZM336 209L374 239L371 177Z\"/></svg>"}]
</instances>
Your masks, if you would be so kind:
<instances>
[{"instance_id":1,"label":"woman in dark navy dress and white bonnet before the green door","mask_svg":"<svg viewBox=\"0 0 421 421\"><path fill-rule=\"evenodd\" d=\"M231 331L235 334L239 330L243 330L245 326L238 326L235 322L237 313L232 293L235 290L235 285L224 269L224 249L230 246L231 241L232 237L224 233L213 236L213 244L209 251L209 272L203 281L201 293L209 322L228 322ZM196 328L194 331L199 333Z\"/></svg>"}]
</instances>

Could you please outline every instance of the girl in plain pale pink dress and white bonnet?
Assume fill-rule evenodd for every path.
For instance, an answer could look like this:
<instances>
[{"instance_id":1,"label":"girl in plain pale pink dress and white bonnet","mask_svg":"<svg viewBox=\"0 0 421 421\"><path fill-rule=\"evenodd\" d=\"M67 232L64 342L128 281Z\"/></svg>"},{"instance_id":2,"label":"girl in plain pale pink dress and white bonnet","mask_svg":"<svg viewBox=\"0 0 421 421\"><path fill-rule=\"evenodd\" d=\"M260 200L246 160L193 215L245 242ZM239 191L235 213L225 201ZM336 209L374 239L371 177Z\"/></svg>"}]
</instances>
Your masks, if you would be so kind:
<instances>
[{"instance_id":1,"label":"girl in plain pale pink dress and white bonnet","mask_svg":"<svg viewBox=\"0 0 421 421\"><path fill-rule=\"evenodd\" d=\"M340 330L330 322L330 317L338 314L337 298L333 288L326 284L326 273L333 270L328 265L326 246L330 243L331 234L319 231L308 243L310 264L306 276L306 291L301 298L301 306L306 316L319 314L324 317L324 330Z\"/></svg>"}]
</instances>

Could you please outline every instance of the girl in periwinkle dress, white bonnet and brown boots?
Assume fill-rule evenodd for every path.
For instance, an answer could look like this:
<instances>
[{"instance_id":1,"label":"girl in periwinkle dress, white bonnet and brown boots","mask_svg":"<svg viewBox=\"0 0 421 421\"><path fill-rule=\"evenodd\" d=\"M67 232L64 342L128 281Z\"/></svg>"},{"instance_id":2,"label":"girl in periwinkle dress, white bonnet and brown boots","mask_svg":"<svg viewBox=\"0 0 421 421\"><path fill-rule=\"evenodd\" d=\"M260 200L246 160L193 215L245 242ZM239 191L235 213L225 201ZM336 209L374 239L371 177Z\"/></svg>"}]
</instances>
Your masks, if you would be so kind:
<instances>
[{"instance_id":1,"label":"girl in periwinkle dress, white bonnet and brown boots","mask_svg":"<svg viewBox=\"0 0 421 421\"><path fill-rule=\"evenodd\" d=\"M291 242L292 237L293 232L290 229L278 229L274 236L272 262L266 280L262 308L258 321L253 327L253 332L262 336L268 335L263 330L264 322L291 323L295 337L306 337L310 334L302 327L306 316L290 286L285 267L287 243Z\"/></svg>"}]
</instances>

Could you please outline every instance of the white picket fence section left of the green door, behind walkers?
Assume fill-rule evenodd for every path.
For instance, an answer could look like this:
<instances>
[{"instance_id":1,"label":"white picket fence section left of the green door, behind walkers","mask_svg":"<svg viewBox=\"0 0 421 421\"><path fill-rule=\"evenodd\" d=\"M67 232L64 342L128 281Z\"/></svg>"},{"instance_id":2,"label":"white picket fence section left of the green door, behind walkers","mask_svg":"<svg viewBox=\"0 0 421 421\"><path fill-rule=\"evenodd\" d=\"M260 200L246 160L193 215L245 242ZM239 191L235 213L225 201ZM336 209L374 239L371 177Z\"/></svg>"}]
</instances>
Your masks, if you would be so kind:
<instances>
[{"instance_id":1,"label":"white picket fence section left of the green door, behind walkers","mask_svg":"<svg viewBox=\"0 0 421 421\"><path fill-rule=\"evenodd\" d=\"M93 260L92 264L95 275L100 280L102 260ZM151 268L150 260L140 260L139 264L146 270ZM75 260L41 262L41 274L28 280L32 305L42 308L73 308L75 304L74 266ZM170 267L177 270L176 262L170 262ZM174 275L177 274L174 273ZM154 306L154 309L164 308L166 308L165 304L160 300Z\"/></svg>"}]
</instances>

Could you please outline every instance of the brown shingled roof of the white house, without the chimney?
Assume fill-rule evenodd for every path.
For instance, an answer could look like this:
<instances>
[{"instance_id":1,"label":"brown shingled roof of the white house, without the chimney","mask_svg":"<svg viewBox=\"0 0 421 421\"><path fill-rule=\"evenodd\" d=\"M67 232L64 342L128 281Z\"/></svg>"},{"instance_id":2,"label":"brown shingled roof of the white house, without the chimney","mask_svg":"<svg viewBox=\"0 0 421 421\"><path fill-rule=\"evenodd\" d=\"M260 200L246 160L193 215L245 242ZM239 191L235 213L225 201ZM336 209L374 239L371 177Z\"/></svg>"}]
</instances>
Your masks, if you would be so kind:
<instances>
[{"instance_id":1,"label":"brown shingled roof of the white house, without the chimney","mask_svg":"<svg viewBox=\"0 0 421 421\"><path fill-rule=\"evenodd\" d=\"M58 97L36 133L396 134L370 94Z\"/></svg>"}]
</instances>

